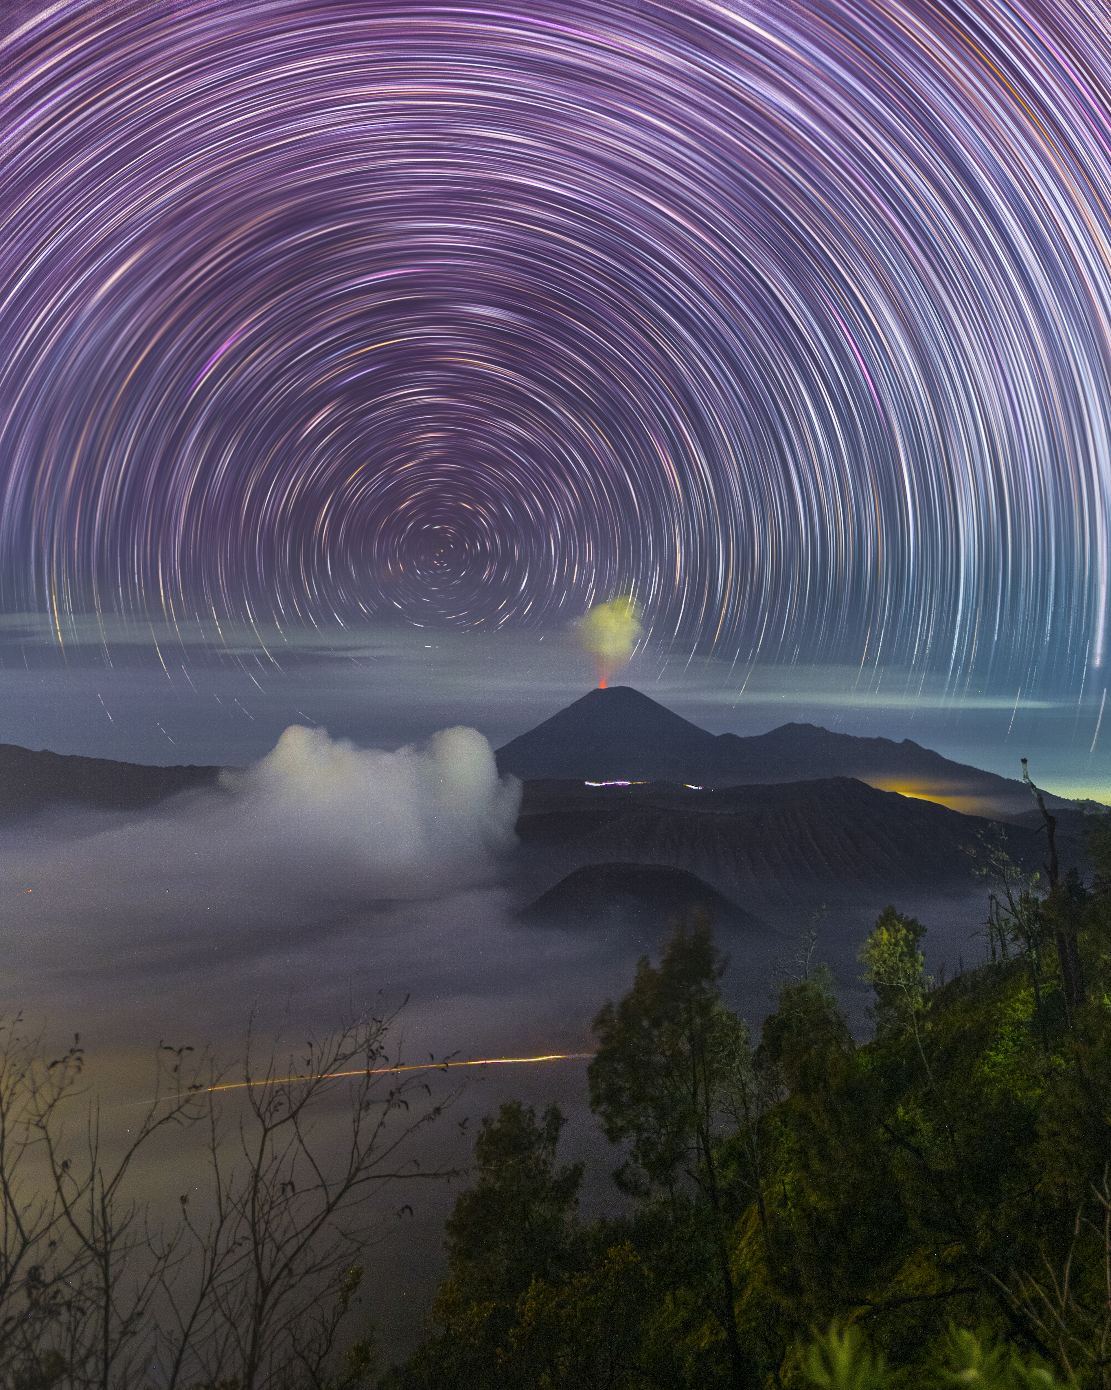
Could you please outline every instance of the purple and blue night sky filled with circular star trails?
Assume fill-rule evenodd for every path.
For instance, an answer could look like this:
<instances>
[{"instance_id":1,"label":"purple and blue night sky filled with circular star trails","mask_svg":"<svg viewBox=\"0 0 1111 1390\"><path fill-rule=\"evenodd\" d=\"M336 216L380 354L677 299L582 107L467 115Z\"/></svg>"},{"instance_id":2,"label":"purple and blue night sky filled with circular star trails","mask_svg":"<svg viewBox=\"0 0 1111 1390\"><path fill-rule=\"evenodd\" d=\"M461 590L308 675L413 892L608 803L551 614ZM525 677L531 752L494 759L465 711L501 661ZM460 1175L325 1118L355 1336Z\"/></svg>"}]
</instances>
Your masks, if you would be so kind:
<instances>
[{"instance_id":1,"label":"purple and blue night sky filled with circular star trails","mask_svg":"<svg viewBox=\"0 0 1111 1390\"><path fill-rule=\"evenodd\" d=\"M624 589L728 659L1082 680L1097 18L24 7L4 606L543 628Z\"/></svg>"}]
</instances>

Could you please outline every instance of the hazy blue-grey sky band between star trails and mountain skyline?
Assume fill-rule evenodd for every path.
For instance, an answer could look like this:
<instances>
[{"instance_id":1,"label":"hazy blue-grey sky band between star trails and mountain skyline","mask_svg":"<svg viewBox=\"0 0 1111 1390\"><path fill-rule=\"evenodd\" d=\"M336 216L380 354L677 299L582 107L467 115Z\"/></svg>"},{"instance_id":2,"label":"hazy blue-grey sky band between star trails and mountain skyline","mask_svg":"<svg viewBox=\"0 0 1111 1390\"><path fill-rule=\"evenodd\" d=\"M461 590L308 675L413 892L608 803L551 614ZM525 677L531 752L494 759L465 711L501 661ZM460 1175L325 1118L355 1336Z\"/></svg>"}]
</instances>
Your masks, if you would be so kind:
<instances>
[{"instance_id":1,"label":"hazy blue-grey sky band between star trails and mountain skyline","mask_svg":"<svg viewBox=\"0 0 1111 1390\"><path fill-rule=\"evenodd\" d=\"M367 748L424 744L464 723L493 748L585 695L596 681L575 624L544 634L406 631L365 624L279 634L228 626L108 630L86 621L60 652L50 621L0 619L0 742L150 763L243 766L290 724ZM754 664L642 646L615 677L711 733L762 734L786 723L911 738L1005 777L1032 759L1058 795L1111 802L1099 699L954 695L905 669ZM1099 733L1097 733L1099 730Z\"/></svg>"}]
</instances>

